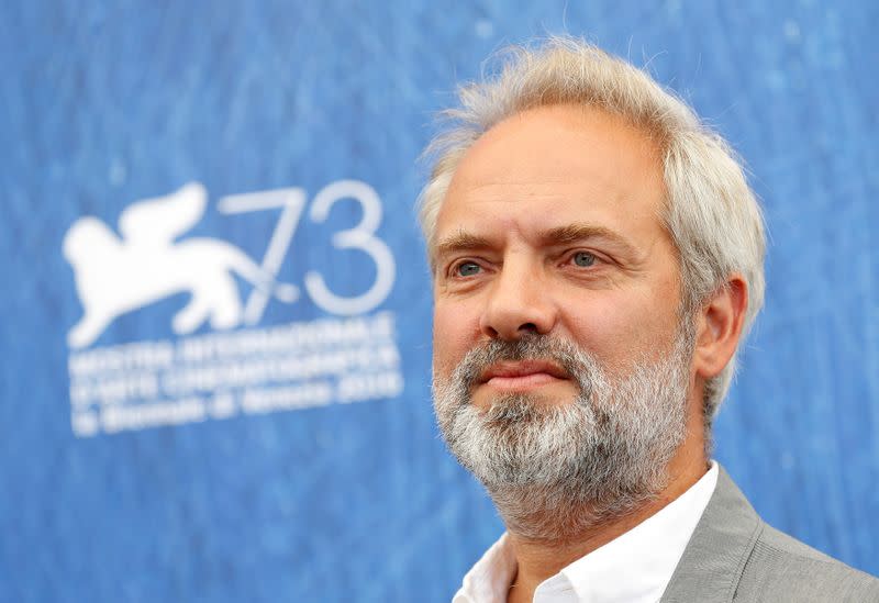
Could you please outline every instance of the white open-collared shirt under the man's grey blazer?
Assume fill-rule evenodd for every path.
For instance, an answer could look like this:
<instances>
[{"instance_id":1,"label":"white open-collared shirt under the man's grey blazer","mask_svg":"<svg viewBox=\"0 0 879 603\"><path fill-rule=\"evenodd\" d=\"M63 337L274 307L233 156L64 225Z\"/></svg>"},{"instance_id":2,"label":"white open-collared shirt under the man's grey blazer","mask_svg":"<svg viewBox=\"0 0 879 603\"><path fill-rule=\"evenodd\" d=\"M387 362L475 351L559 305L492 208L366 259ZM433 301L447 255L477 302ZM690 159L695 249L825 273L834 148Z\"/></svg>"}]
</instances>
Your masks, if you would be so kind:
<instances>
[{"instance_id":1,"label":"white open-collared shirt under the man's grey blazer","mask_svg":"<svg viewBox=\"0 0 879 603\"><path fill-rule=\"evenodd\" d=\"M717 464L683 494L625 534L547 578L534 603L656 603L717 485ZM507 534L464 577L453 603L505 603L516 572Z\"/></svg>"}]
</instances>

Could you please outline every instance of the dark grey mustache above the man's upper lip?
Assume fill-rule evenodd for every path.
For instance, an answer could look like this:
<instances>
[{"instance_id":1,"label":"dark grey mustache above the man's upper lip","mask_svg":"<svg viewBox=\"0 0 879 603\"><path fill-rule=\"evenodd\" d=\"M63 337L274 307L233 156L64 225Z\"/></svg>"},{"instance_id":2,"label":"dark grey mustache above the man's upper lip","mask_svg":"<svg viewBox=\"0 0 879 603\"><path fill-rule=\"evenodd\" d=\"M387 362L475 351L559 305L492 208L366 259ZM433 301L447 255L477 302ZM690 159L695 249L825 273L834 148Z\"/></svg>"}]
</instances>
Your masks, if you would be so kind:
<instances>
[{"instance_id":1,"label":"dark grey mustache above the man's upper lip","mask_svg":"<svg viewBox=\"0 0 879 603\"><path fill-rule=\"evenodd\" d=\"M549 335L527 334L516 340L492 339L471 348L453 372L453 382L468 391L492 365L503 361L550 360L560 366L580 390L589 394L601 367L574 343Z\"/></svg>"}]
</instances>

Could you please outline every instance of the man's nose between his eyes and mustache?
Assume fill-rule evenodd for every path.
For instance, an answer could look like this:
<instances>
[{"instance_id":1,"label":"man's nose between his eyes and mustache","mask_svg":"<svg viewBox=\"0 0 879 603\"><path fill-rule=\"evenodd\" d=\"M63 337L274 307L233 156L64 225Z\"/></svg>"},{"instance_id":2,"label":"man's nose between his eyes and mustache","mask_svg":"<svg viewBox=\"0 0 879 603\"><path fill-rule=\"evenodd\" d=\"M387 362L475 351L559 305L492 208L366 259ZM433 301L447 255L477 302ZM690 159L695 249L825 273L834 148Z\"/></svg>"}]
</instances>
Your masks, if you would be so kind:
<instances>
[{"instance_id":1,"label":"man's nose between his eyes and mustache","mask_svg":"<svg viewBox=\"0 0 879 603\"><path fill-rule=\"evenodd\" d=\"M548 334L557 310L538 269L508 263L491 283L480 330L492 339L515 340L525 334Z\"/></svg>"}]
</instances>

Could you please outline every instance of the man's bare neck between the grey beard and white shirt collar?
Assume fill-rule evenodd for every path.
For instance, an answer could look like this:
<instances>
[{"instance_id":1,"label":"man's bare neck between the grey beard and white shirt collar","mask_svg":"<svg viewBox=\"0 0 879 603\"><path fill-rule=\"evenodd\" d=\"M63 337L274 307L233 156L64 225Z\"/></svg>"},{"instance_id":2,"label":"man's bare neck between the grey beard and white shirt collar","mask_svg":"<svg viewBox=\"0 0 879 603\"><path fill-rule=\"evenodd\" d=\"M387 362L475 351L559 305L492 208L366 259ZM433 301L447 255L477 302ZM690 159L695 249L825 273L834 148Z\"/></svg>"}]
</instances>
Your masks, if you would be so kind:
<instances>
[{"instance_id":1,"label":"man's bare neck between the grey beard and white shirt collar","mask_svg":"<svg viewBox=\"0 0 879 603\"><path fill-rule=\"evenodd\" d=\"M592 522L580 521L576 527L568 522L566 525L558 525L555 531L556 535L552 538L534 538L527 534L528 529L516 529L508 522L510 544L518 562L518 571L510 589L508 603L531 602L534 591L541 582L555 576L577 559L625 534L680 496L704 476L708 467L704 457L702 462L698 464L693 464L692 459L687 460L688 462L682 464L683 466L680 468L676 467L678 459L672 460L669 465L668 485L658 495L625 514ZM500 509L501 505L499 505ZM503 515L503 512L501 514ZM544 514L541 513L541 515ZM593 517L594 513L591 507L582 507L554 514L554 517L564 518L572 515L583 518ZM534 520L539 522L541 529L546 529L548 524L546 515L537 518L535 513Z\"/></svg>"}]
</instances>

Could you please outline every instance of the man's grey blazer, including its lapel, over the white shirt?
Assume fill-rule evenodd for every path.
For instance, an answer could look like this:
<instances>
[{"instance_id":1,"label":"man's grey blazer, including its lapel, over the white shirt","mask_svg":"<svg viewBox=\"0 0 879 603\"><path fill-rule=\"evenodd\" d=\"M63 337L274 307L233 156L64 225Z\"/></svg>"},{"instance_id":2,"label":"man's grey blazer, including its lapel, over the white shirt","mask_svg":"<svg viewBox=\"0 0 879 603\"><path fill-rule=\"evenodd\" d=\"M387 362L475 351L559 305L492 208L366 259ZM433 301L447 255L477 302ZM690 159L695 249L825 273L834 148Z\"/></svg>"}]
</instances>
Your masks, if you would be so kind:
<instances>
[{"instance_id":1,"label":"man's grey blazer, including its lapel, over the white shirt","mask_svg":"<svg viewBox=\"0 0 879 603\"><path fill-rule=\"evenodd\" d=\"M720 468L664 602L879 602L879 580L765 524Z\"/></svg>"}]
</instances>

